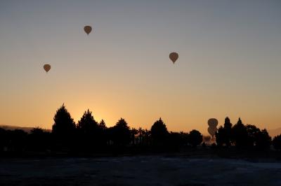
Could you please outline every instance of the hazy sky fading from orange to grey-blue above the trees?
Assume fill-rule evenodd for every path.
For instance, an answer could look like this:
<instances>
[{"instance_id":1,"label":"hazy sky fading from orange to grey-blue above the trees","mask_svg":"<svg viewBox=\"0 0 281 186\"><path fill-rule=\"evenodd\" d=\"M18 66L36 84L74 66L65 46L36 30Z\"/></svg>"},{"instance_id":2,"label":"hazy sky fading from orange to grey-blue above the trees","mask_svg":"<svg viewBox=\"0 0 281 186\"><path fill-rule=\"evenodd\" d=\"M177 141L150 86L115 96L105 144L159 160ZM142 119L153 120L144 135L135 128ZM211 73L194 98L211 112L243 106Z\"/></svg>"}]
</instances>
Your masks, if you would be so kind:
<instances>
[{"instance_id":1,"label":"hazy sky fading from orange to grey-blue above the trees","mask_svg":"<svg viewBox=\"0 0 281 186\"><path fill-rule=\"evenodd\" d=\"M0 0L0 124L281 126L281 1ZM84 26L91 25L89 36ZM178 52L178 61L169 60ZM44 64L51 64L46 73Z\"/></svg>"}]
</instances>

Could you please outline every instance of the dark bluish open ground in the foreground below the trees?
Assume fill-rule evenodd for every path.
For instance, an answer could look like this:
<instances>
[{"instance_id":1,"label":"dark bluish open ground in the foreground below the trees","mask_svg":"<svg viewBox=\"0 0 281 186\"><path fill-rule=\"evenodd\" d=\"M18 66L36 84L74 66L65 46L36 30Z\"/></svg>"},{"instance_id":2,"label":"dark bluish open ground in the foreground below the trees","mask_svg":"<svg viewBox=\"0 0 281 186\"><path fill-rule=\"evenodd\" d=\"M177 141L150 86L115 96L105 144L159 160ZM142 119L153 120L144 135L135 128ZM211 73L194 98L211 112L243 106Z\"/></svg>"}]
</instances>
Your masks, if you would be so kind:
<instances>
[{"instance_id":1,"label":"dark bluish open ground in the foreground below the trees","mask_svg":"<svg viewBox=\"0 0 281 186\"><path fill-rule=\"evenodd\" d=\"M2 158L0 185L281 185L281 162L164 156Z\"/></svg>"}]
</instances>

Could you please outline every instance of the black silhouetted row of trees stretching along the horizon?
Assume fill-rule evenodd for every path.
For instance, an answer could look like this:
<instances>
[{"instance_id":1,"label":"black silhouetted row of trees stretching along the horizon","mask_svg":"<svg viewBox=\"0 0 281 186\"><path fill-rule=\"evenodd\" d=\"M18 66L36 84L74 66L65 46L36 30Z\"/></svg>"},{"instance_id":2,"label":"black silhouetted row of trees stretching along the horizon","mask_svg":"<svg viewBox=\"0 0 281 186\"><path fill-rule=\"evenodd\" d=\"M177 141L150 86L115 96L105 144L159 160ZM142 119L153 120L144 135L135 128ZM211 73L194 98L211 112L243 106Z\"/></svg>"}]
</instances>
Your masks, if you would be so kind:
<instances>
[{"instance_id":1,"label":"black silhouetted row of trees stretching along the horizon","mask_svg":"<svg viewBox=\"0 0 281 186\"><path fill-rule=\"evenodd\" d=\"M32 129L30 134L20 129L0 128L0 152L170 152L206 146L200 131L169 132L161 117L150 130L130 128L124 118L115 126L106 127L104 120L96 122L91 111L86 110L76 124L63 104L53 120L51 132L39 127ZM273 145L275 150L281 150L281 135L272 141L266 129L245 125L240 118L233 125L226 117L215 136L216 143L212 146L217 148L235 146L268 150Z\"/></svg>"}]
</instances>

